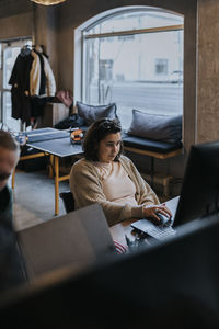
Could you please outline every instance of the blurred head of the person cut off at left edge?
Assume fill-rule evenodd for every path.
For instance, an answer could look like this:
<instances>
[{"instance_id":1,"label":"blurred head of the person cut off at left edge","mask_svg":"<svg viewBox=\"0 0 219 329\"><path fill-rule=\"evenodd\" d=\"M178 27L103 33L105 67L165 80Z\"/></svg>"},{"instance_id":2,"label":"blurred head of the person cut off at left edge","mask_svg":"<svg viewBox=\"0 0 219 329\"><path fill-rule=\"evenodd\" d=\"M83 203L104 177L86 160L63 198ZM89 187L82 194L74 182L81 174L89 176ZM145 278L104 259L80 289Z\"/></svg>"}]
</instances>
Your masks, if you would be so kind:
<instances>
[{"instance_id":1,"label":"blurred head of the person cut off at left edge","mask_svg":"<svg viewBox=\"0 0 219 329\"><path fill-rule=\"evenodd\" d=\"M20 155L20 147L10 133L0 131L0 191L13 172Z\"/></svg>"}]
</instances>

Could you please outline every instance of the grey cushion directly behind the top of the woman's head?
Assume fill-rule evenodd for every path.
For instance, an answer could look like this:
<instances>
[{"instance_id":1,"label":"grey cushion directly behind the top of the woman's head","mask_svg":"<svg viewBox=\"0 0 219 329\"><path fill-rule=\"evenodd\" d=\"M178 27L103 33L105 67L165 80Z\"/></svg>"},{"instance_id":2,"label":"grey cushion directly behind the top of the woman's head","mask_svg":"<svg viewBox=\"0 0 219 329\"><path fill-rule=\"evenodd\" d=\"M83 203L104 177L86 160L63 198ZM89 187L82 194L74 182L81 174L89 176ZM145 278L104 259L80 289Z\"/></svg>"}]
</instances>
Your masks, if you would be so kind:
<instances>
[{"instance_id":1,"label":"grey cushion directly behind the top of the woman's head","mask_svg":"<svg viewBox=\"0 0 219 329\"><path fill-rule=\"evenodd\" d=\"M101 117L115 118L116 115L116 104L112 103L108 105L88 105L81 102L77 102L78 114L83 117L87 126L92 124L94 121Z\"/></svg>"}]
</instances>

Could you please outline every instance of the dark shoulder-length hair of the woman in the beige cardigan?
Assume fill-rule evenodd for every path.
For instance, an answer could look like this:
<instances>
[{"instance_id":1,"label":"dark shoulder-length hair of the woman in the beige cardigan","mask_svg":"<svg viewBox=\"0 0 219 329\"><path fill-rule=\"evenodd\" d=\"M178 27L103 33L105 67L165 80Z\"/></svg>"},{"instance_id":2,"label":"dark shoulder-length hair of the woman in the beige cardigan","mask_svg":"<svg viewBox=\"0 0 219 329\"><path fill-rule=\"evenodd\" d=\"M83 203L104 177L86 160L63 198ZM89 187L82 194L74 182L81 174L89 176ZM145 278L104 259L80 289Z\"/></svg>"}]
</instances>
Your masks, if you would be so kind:
<instances>
[{"instance_id":1,"label":"dark shoulder-length hair of the woman in the beige cardigan","mask_svg":"<svg viewBox=\"0 0 219 329\"><path fill-rule=\"evenodd\" d=\"M120 123L117 118L102 117L88 128L85 137L82 143L84 157L87 160L99 161L99 143L110 134L122 132ZM123 143L120 143L120 150L114 161L117 161L123 152Z\"/></svg>"}]
</instances>

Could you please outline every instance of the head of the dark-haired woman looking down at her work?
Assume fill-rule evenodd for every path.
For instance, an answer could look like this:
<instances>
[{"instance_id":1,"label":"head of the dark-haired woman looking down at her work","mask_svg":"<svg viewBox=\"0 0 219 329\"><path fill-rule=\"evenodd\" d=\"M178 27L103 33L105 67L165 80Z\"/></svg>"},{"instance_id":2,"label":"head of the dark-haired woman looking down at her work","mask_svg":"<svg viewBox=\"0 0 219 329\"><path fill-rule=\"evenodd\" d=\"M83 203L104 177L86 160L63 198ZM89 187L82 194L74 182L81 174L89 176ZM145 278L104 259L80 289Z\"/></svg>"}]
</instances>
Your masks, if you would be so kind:
<instances>
[{"instance_id":1,"label":"head of the dark-haired woman looking down at her work","mask_svg":"<svg viewBox=\"0 0 219 329\"><path fill-rule=\"evenodd\" d=\"M117 161L123 152L120 123L116 118L103 117L88 128L83 140L87 160L110 162Z\"/></svg>"}]
</instances>

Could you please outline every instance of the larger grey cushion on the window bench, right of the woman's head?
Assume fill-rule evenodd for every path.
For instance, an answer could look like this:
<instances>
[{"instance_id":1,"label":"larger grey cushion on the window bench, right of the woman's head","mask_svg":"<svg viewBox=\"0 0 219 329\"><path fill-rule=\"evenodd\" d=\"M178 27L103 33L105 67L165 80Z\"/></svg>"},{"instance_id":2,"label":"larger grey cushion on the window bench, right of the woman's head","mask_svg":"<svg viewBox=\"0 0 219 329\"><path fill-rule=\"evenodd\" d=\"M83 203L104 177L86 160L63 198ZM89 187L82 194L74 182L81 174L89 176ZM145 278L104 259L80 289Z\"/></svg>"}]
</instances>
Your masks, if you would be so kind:
<instances>
[{"instance_id":1,"label":"larger grey cushion on the window bench, right of the woman's head","mask_svg":"<svg viewBox=\"0 0 219 329\"><path fill-rule=\"evenodd\" d=\"M158 115L132 110L129 135L176 143L182 139L182 115Z\"/></svg>"}]
</instances>

